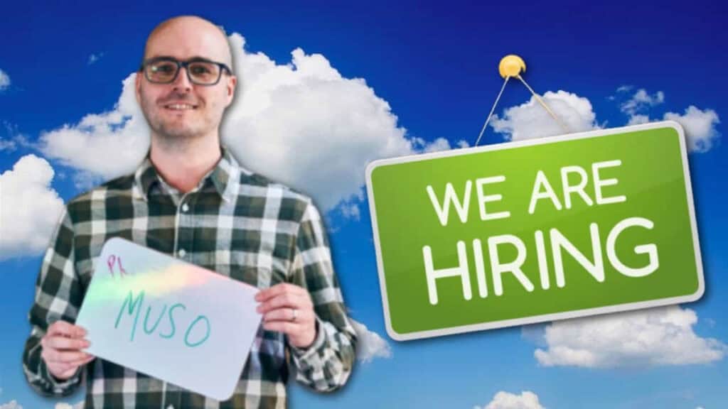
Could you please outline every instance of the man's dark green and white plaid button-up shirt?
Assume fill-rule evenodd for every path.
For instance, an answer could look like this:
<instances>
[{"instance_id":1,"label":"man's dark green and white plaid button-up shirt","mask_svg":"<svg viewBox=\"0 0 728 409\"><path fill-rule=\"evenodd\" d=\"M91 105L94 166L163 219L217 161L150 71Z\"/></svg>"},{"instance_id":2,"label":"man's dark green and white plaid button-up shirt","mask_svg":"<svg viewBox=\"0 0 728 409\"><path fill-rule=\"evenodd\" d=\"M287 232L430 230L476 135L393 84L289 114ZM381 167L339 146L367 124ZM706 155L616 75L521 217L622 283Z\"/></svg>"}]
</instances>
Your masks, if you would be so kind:
<instances>
[{"instance_id":1,"label":"man's dark green and white plaid button-up shirt","mask_svg":"<svg viewBox=\"0 0 728 409\"><path fill-rule=\"evenodd\" d=\"M300 285L314 303L318 335L301 350L261 326L235 392L224 402L97 358L86 365L86 408L285 408L289 368L317 391L337 389L349 378L356 334L316 207L240 167L223 149L215 168L186 194L165 183L147 157L134 174L68 202L43 258L23 352L25 376L42 394L71 394L82 381L80 369L67 381L53 378L41 359L40 340L52 322L75 322L101 247L111 237L258 288Z\"/></svg>"}]
</instances>

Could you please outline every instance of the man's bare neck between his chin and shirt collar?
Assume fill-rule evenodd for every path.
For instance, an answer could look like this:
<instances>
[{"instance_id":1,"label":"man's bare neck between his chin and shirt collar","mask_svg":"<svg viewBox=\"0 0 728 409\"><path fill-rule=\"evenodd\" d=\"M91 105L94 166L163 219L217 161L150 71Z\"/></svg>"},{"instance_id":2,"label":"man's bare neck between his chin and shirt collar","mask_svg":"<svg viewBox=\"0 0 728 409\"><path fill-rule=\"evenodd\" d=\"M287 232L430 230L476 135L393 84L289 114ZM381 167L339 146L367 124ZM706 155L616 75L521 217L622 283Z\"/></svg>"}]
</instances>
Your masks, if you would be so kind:
<instances>
[{"instance_id":1,"label":"man's bare neck between his chin and shirt collar","mask_svg":"<svg viewBox=\"0 0 728 409\"><path fill-rule=\"evenodd\" d=\"M151 135L149 158L170 186L186 193L195 188L220 160L220 140L215 134L169 143Z\"/></svg>"}]
</instances>

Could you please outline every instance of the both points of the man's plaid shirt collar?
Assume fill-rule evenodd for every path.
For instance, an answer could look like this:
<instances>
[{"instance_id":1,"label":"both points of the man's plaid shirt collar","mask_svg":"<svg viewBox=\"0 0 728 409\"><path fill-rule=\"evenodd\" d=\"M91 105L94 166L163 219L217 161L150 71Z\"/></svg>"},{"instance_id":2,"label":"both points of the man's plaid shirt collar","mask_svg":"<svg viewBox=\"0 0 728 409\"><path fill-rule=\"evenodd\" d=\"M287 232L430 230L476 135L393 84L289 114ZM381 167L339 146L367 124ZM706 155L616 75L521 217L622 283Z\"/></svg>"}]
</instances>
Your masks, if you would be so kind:
<instances>
[{"instance_id":1,"label":"both points of the man's plaid shirt collar","mask_svg":"<svg viewBox=\"0 0 728 409\"><path fill-rule=\"evenodd\" d=\"M237 196L237 190L239 187L238 180L240 180L240 173L249 173L242 169L240 164L237 163L235 158L230 154L230 151L225 147L221 146L221 159L215 164L210 172L205 175L200 181L199 186L204 186L205 181L210 179L212 185L215 187L215 191L226 201L230 202L234 196ZM161 176L157 172L157 168L149 159L149 153L147 153L143 162L137 167L134 173L134 187L133 194L135 198L148 200L149 192L151 188L160 182Z\"/></svg>"}]
</instances>

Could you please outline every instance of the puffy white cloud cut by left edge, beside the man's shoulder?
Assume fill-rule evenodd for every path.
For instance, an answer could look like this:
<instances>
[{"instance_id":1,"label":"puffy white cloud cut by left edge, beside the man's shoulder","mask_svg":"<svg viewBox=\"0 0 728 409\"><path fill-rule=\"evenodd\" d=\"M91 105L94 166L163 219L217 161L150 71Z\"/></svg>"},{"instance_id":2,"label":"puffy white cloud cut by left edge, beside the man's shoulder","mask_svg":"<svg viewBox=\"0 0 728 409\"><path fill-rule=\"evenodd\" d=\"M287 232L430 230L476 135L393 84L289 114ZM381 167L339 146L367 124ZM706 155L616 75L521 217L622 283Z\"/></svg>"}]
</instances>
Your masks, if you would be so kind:
<instances>
[{"instance_id":1,"label":"puffy white cloud cut by left edge, beside the man's shoulder","mask_svg":"<svg viewBox=\"0 0 728 409\"><path fill-rule=\"evenodd\" d=\"M0 175L0 259L40 253L63 212L50 188L54 171L35 155L20 158Z\"/></svg>"}]
</instances>

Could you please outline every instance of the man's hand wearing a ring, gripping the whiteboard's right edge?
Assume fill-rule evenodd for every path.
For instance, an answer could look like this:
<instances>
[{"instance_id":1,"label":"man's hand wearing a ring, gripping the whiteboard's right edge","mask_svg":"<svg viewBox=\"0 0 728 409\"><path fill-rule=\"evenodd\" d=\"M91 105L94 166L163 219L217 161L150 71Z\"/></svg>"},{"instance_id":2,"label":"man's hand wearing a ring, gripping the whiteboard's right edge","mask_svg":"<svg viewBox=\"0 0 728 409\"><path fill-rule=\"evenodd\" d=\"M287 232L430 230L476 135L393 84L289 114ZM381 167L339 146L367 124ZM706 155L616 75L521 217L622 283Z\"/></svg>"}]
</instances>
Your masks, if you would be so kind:
<instances>
[{"instance_id":1,"label":"man's hand wearing a ring, gripping the whiteboard's right edge","mask_svg":"<svg viewBox=\"0 0 728 409\"><path fill-rule=\"evenodd\" d=\"M282 283L256 294L261 303L263 327L288 335L288 342L306 349L316 339L316 313L309 292L298 285Z\"/></svg>"}]
</instances>

